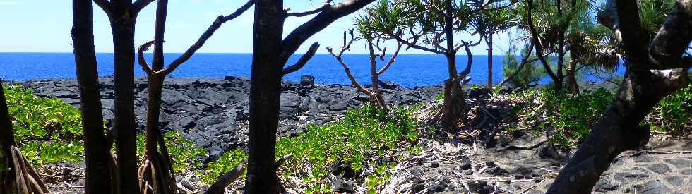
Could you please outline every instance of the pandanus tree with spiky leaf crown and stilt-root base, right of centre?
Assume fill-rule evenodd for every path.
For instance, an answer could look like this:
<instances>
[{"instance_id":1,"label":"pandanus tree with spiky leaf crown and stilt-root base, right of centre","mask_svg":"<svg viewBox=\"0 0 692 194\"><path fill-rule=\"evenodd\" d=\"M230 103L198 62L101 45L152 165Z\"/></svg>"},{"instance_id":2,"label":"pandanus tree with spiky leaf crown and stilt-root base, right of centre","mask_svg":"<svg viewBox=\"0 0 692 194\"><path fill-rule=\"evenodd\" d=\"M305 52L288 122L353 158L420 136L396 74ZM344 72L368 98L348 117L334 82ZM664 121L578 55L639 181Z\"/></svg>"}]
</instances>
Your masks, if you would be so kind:
<instances>
[{"instance_id":1,"label":"pandanus tree with spiky leaf crown and stilt-root base, right of centre","mask_svg":"<svg viewBox=\"0 0 692 194\"><path fill-rule=\"evenodd\" d=\"M447 59L448 78L444 80L443 106L433 114L429 123L454 128L465 117L467 105L463 84L470 80L466 77L471 71L470 47L480 44L481 39L477 42L455 40L455 35L460 32L477 35L476 29L470 25L473 16L488 10L493 4L501 4L493 8L505 8L511 1L400 0L389 4L400 8L383 9L388 12L379 15L387 17L374 18L385 24L377 29L379 32L402 42L407 49L428 51ZM465 48L468 61L462 71L457 71L456 54L461 48Z\"/></svg>"}]
</instances>

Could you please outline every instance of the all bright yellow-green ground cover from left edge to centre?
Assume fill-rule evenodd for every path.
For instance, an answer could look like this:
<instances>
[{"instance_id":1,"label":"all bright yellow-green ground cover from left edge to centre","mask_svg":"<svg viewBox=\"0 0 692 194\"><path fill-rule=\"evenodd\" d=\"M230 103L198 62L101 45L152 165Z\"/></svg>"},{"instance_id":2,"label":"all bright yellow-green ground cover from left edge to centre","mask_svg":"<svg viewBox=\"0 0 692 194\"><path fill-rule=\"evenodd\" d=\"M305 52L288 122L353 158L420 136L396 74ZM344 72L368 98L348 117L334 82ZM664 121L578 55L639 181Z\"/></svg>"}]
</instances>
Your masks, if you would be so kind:
<instances>
[{"instance_id":1,"label":"all bright yellow-green ground cover from left edge to centre","mask_svg":"<svg viewBox=\"0 0 692 194\"><path fill-rule=\"evenodd\" d=\"M16 126L18 143L28 159L42 166L83 160L83 143L78 109L56 98L33 95L18 85L5 87L8 106ZM418 106L419 107L419 106ZM419 123L412 113L417 107L394 107L390 111L365 105L346 111L340 121L279 138L277 158L294 154L280 168L282 179L298 193L329 193L330 176L360 180L356 189L376 193L388 179L397 150L413 147L419 138ZM245 150L229 150L213 162L203 164L208 153L181 132L164 133L176 174L194 174L210 185L219 176L247 158ZM137 155L144 156L144 135L138 135ZM113 148L114 149L114 148ZM341 171L335 171L341 165ZM355 173L355 174L350 174ZM241 179L244 176L241 176Z\"/></svg>"}]
</instances>

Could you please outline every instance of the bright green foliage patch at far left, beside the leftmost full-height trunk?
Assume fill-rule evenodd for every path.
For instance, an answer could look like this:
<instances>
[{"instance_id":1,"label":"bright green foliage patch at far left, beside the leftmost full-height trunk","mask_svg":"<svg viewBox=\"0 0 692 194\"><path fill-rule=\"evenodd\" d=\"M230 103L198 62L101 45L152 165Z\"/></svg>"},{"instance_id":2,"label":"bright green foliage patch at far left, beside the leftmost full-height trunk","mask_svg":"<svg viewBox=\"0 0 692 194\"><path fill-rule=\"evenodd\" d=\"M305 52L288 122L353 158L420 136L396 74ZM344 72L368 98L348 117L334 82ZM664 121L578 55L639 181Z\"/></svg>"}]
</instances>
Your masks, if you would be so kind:
<instances>
[{"instance_id":1,"label":"bright green foliage patch at far left, beside the leftmost full-height trunk","mask_svg":"<svg viewBox=\"0 0 692 194\"><path fill-rule=\"evenodd\" d=\"M3 90L15 140L32 165L80 161L84 149L78 109L60 99L37 97L18 85L4 85Z\"/></svg>"}]
</instances>

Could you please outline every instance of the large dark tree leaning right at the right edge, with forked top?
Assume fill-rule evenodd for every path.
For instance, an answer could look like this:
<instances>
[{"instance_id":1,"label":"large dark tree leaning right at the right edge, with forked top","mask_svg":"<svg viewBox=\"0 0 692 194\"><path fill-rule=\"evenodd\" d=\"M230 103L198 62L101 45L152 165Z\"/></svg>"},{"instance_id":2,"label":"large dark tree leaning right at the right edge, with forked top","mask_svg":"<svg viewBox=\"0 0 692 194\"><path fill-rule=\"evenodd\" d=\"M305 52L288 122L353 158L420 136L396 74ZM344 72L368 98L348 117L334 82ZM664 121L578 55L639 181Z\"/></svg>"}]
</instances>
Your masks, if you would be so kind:
<instances>
[{"instance_id":1,"label":"large dark tree leaning right at the right edge, with forked top","mask_svg":"<svg viewBox=\"0 0 692 194\"><path fill-rule=\"evenodd\" d=\"M653 36L640 20L637 1L609 0L598 17L621 42L624 80L547 193L590 193L615 157L648 143L650 128L641 121L660 99L689 85L692 56L685 52L692 41L692 1L676 1Z\"/></svg>"}]
</instances>

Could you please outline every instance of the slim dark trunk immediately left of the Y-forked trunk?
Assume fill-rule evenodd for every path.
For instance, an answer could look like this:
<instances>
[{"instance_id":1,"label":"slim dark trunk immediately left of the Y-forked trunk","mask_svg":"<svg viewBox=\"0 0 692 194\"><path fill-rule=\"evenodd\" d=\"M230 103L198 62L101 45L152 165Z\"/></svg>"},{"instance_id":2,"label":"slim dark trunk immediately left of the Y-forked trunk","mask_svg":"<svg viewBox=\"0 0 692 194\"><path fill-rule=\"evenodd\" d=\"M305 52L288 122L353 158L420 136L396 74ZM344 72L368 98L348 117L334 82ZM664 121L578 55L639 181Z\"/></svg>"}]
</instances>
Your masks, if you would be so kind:
<instances>
[{"instance_id":1,"label":"slim dark trunk immediately left of the Y-forked trunk","mask_svg":"<svg viewBox=\"0 0 692 194\"><path fill-rule=\"evenodd\" d=\"M89 0L72 1L72 42L84 133L84 193L112 193L110 147L106 143L94 51L93 8Z\"/></svg>"}]
</instances>

